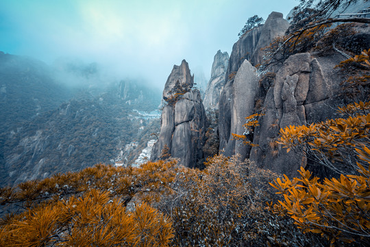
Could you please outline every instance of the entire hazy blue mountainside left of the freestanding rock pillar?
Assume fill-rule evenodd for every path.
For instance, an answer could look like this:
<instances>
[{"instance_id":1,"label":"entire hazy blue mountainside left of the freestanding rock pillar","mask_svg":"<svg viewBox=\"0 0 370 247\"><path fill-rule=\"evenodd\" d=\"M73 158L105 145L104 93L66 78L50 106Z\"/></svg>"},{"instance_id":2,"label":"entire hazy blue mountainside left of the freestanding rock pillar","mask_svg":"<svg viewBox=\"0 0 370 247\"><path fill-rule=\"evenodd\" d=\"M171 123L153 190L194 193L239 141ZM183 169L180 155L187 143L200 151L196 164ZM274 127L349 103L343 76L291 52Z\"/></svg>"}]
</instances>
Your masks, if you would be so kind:
<instances>
[{"instance_id":1,"label":"entire hazy blue mountainside left of the freestanding rock pillar","mask_svg":"<svg viewBox=\"0 0 370 247\"><path fill-rule=\"evenodd\" d=\"M86 72L76 68L63 72L66 80ZM0 54L0 186L113 163L125 144L140 139L149 120L134 110L156 110L160 93L129 86L123 97L122 85L106 80L97 87L104 79L95 74L71 89L47 64Z\"/></svg>"}]
</instances>

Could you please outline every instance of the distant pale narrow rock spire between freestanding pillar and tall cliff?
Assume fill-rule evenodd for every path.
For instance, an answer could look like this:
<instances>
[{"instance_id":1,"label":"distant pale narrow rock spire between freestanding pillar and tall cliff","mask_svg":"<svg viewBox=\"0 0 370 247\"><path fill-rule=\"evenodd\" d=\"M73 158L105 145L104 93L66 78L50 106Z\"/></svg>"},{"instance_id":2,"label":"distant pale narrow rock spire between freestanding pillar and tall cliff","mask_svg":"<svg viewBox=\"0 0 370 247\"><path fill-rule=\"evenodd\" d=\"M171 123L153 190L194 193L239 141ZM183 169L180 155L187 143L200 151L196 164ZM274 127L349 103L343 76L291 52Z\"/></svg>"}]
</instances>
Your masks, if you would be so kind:
<instances>
[{"instance_id":1,"label":"distant pale narrow rock spire between freestanding pillar and tall cliff","mask_svg":"<svg viewBox=\"0 0 370 247\"><path fill-rule=\"evenodd\" d=\"M228 63L229 54L220 50L217 51L213 59L211 78L208 82L206 97L204 97L204 107L206 109L219 108L219 99L225 85L225 73Z\"/></svg>"}]
</instances>

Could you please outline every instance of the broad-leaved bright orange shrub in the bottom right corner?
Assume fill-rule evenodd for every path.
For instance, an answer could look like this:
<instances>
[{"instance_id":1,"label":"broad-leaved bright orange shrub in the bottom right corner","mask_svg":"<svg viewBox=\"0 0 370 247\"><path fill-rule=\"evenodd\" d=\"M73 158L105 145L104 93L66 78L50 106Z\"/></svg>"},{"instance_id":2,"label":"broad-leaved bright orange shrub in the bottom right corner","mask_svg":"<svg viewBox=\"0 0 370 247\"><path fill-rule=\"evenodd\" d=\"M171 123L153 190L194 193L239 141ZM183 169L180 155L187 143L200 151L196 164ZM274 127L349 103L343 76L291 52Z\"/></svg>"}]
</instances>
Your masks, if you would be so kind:
<instances>
[{"instance_id":1,"label":"broad-leaved bright orange shrub in the bottom right corner","mask_svg":"<svg viewBox=\"0 0 370 247\"><path fill-rule=\"evenodd\" d=\"M370 164L370 150L358 152ZM358 166L360 176L342 174L340 179L325 178L323 183L317 177L310 178L310 172L303 167L299 171L301 178L277 178L271 186L284 195L284 201L273 205L274 211L287 212L304 233L320 233L331 244L338 240L368 244L370 167Z\"/></svg>"}]
</instances>

